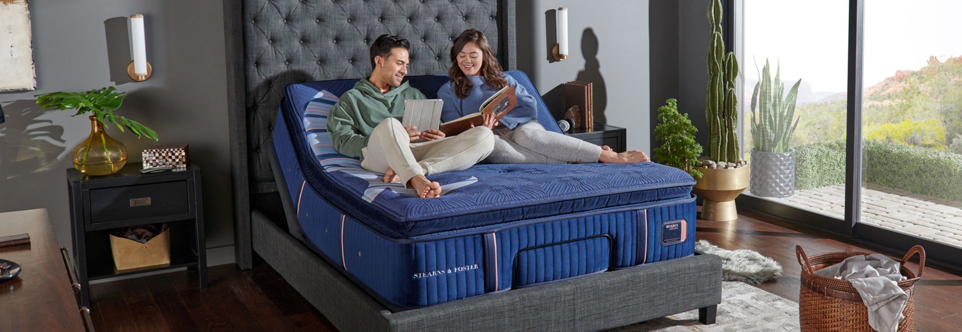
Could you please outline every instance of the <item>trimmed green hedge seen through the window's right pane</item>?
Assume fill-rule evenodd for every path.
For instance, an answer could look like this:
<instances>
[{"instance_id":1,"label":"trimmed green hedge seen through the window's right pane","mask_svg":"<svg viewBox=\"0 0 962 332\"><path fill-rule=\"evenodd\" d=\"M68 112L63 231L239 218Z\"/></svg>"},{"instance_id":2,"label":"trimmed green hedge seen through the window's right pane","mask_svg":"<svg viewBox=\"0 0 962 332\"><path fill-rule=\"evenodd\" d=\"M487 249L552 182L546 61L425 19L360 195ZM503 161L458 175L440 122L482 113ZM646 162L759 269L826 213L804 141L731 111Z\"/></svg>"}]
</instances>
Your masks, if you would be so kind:
<instances>
[{"instance_id":1,"label":"trimmed green hedge seen through the window's right pane","mask_svg":"<svg viewBox=\"0 0 962 332\"><path fill-rule=\"evenodd\" d=\"M962 155L928 147L868 140L863 145L866 182L962 200Z\"/></svg>"}]
</instances>

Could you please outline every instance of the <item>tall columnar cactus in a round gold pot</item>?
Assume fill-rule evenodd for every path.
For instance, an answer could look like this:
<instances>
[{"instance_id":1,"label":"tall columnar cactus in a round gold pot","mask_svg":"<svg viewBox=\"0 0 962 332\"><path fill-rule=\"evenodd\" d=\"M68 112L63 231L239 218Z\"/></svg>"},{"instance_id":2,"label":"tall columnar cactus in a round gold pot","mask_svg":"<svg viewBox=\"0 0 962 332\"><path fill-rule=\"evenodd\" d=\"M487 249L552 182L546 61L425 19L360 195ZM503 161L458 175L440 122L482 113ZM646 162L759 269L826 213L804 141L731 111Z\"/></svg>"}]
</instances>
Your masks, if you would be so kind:
<instances>
[{"instance_id":1,"label":"tall columnar cactus in a round gold pot","mask_svg":"<svg viewBox=\"0 0 962 332\"><path fill-rule=\"evenodd\" d=\"M708 120L708 158L703 162L702 177L695 190L701 195L701 218L729 221L738 218L735 197L748 188L748 165L742 161L738 147L738 98L735 78L738 61L735 54L724 53L722 40L722 2L708 3L708 23L712 40L708 44L708 96L705 117Z\"/></svg>"}]
</instances>

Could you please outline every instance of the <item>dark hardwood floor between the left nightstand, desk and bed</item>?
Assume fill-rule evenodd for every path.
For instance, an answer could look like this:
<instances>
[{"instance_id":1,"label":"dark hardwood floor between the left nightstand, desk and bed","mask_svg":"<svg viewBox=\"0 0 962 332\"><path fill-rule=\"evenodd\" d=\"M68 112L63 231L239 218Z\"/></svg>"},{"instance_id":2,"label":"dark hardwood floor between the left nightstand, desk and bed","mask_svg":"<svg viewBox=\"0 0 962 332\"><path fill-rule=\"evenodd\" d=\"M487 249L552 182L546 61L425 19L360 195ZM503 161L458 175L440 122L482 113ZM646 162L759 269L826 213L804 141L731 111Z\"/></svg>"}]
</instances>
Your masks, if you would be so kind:
<instances>
[{"instance_id":1,"label":"dark hardwood floor between the left nightstand, desk and bed","mask_svg":"<svg viewBox=\"0 0 962 332\"><path fill-rule=\"evenodd\" d=\"M337 331L271 268L208 268L92 285L97 331Z\"/></svg>"}]
</instances>

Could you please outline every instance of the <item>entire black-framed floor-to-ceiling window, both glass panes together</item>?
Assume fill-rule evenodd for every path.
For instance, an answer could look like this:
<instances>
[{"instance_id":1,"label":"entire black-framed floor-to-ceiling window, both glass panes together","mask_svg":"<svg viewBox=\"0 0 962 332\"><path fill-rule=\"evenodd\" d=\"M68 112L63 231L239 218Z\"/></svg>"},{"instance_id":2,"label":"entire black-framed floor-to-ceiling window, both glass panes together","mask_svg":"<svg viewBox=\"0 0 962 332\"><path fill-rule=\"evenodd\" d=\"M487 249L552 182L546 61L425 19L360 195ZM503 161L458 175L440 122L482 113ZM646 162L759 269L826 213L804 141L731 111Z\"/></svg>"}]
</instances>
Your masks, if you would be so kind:
<instances>
[{"instance_id":1,"label":"entire black-framed floor-to-ceiling window, both glass panes together","mask_svg":"<svg viewBox=\"0 0 962 332\"><path fill-rule=\"evenodd\" d=\"M962 264L962 2L727 3L752 163L739 203Z\"/></svg>"}]
</instances>

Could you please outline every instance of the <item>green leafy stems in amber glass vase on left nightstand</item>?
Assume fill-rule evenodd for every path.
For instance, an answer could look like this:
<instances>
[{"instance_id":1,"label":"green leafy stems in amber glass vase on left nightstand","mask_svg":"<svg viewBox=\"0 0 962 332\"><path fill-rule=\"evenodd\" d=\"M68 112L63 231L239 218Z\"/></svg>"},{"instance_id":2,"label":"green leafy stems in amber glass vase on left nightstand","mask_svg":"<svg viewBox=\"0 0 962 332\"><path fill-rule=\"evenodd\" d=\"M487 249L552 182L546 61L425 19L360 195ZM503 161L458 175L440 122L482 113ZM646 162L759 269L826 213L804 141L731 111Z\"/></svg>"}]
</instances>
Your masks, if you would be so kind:
<instances>
[{"instance_id":1,"label":"green leafy stems in amber glass vase on left nightstand","mask_svg":"<svg viewBox=\"0 0 962 332\"><path fill-rule=\"evenodd\" d=\"M127 148L104 131L104 125L113 123L121 132L124 128L137 135L157 140L157 133L139 122L116 115L114 111L123 104L127 92L116 88L91 89L87 92L51 92L35 95L37 105L43 111L77 110L71 116L89 114L90 136L73 148L71 159L77 170L88 175L113 174L127 164Z\"/></svg>"}]
</instances>

